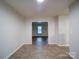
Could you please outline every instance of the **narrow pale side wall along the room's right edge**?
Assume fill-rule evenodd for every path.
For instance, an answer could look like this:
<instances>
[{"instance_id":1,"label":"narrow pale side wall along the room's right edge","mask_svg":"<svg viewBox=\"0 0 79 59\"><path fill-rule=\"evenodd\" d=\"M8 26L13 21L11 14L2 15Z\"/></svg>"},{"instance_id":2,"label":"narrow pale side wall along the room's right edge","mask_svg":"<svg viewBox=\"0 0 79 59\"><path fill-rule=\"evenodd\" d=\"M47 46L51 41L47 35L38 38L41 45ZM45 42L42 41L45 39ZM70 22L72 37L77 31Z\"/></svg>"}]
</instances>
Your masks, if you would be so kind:
<instances>
[{"instance_id":1,"label":"narrow pale side wall along the room's right edge","mask_svg":"<svg viewBox=\"0 0 79 59\"><path fill-rule=\"evenodd\" d=\"M79 59L79 1L70 10L70 49Z\"/></svg>"}]
</instances>

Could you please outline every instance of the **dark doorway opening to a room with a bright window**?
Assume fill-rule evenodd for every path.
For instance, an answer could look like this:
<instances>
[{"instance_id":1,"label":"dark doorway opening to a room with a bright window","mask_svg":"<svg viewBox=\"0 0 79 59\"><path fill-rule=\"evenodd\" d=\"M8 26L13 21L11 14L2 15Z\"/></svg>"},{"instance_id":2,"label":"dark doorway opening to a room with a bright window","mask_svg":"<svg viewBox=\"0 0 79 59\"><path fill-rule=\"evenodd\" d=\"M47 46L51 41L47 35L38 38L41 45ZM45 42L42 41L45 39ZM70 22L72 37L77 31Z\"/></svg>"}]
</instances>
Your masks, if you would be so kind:
<instances>
[{"instance_id":1,"label":"dark doorway opening to a room with a bright window","mask_svg":"<svg viewBox=\"0 0 79 59\"><path fill-rule=\"evenodd\" d=\"M32 22L32 44L48 44L48 22Z\"/></svg>"}]
</instances>

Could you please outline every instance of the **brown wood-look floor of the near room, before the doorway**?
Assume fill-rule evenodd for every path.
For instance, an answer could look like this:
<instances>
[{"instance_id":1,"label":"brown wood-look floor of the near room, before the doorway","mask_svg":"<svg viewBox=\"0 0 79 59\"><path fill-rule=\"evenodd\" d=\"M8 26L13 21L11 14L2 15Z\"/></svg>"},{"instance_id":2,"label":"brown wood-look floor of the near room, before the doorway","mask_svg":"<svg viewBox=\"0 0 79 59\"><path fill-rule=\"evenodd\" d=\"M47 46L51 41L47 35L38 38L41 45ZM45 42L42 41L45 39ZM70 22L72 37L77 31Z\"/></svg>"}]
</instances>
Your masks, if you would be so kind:
<instances>
[{"instance_id":1,"label":"brown wood-look floor of the near room, before the doorway","mask_svg":"<svg viewBox=\"0 0 79 59\"><path fill-rule=\"evenodd\" d=\"M68 47L23 45L9 59L72 59Z\"/></svg>"}]
</instances>

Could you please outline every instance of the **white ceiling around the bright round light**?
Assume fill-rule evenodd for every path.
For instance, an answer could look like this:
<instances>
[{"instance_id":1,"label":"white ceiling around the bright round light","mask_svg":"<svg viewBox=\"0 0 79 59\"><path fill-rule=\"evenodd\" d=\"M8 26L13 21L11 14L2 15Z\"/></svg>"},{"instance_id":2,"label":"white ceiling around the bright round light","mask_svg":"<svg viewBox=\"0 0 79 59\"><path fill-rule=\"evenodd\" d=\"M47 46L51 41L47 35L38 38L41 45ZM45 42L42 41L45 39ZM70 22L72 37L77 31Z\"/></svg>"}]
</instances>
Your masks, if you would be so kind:
<instances>
[{"instance_id":1,"label":"white ceiling around the bright round light","mask_svg":"<svg viewBox=\"0 0 79 59\"><path fill-rule=\"evenodd\" d=\"M36 0L5 1L26 17L46 17L62 15L73 0L45 0L44 3L37 3Z\"/></svg>"}]
</instances>

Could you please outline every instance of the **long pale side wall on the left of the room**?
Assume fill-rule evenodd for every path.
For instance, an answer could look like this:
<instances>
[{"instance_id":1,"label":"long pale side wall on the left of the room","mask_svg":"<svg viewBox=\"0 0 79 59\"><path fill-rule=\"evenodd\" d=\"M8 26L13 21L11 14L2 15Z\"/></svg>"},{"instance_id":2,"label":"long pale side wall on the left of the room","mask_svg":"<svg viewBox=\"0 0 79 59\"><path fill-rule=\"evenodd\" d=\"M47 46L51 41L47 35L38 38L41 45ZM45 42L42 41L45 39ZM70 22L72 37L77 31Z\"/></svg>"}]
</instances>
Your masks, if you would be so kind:
<instances>
[{"instance_id":1,"label":"long pale side wall on the left of the room","mask_svg":"<svg viewBox=\"0 0 79 59\"><path fill-rule=\"evenodd\" d=\"M0 59L12 53L23 40L23 19L0 2Z\"/></svg>"}]
</instances>

